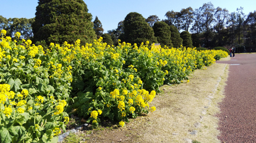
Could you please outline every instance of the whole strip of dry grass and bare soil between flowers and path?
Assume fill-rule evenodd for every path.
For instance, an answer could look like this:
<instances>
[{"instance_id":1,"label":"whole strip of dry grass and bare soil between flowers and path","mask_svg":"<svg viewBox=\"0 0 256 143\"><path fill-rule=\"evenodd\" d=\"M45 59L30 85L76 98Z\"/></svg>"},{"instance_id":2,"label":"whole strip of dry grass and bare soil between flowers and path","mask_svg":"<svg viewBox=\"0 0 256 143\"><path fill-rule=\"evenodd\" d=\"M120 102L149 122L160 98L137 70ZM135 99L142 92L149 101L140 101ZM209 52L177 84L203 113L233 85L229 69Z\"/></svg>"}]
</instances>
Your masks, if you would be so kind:
<instances>
[{"instance_id":1,"label":"whole strip of dry grass and bare soil between flowers and path","mask_svg":"<svg viewBox=\"0 0 256 143\"><path fill-rule=\"evenodd\" d=\"M215 115L224 98L229 65L206 68L191 73L189 83L163 85L149 104L156 111L130 119L126 127L105 123L81 129L63 142L220 142Z\"/></svg>"}]
</instances>

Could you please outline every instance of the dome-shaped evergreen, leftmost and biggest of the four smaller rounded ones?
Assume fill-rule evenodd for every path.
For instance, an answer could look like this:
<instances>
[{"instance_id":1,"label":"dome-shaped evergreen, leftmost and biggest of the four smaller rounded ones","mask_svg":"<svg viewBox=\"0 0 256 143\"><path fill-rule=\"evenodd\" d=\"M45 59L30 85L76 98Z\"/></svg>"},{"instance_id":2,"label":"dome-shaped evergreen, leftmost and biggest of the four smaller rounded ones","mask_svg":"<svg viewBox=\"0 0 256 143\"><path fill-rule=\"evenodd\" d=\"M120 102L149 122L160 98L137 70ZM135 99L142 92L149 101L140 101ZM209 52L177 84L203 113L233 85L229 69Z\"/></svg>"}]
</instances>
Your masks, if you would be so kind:
<instances>
[{"instance_id":1,"label":"dome-shaped evergreen, leftmost and biggest of the four smaller rounded ones","mask_svg":"<svg viewBox=\"0 0 256 143\"><path fill-rule=\"evenodd\" d=\"M130 12L126 15L123 21L123 31L124 35L121 40L130 44L141 44L146 41L157 42L153 29L137 12Z\"/></svg>"}]
</instances>

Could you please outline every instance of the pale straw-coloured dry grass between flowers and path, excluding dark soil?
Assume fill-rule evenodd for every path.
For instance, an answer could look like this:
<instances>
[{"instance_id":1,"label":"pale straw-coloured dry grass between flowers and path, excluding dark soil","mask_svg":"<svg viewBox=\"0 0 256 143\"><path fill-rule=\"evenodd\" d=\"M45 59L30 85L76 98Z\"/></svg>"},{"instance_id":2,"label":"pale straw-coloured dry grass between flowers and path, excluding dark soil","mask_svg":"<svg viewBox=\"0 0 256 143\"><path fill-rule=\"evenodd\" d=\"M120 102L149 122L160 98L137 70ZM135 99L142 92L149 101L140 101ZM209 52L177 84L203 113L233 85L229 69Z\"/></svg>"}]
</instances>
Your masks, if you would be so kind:
<instances>
[{"instance_id":1,"label":"pale straw-coloured dry grass between flowers and path, excluding dark soil","mask_svg":"<svg viewBox=\"0 0 256 143\"><path fill-rule=\"evenodd\" d=\"M224 98L228 68L227 64L213 64L207 70L193 72L189 83L162 86L163 92L150 104L156 106L156 111L148 114L146 122L137 128L142 131L138 142L185 142L184 138L201 143L220 142L214 115L220 112L218 103ZM197 122L200 127L195 127ZM197 135L190 134L194 130Z\"/></svg>"}]
</instances>

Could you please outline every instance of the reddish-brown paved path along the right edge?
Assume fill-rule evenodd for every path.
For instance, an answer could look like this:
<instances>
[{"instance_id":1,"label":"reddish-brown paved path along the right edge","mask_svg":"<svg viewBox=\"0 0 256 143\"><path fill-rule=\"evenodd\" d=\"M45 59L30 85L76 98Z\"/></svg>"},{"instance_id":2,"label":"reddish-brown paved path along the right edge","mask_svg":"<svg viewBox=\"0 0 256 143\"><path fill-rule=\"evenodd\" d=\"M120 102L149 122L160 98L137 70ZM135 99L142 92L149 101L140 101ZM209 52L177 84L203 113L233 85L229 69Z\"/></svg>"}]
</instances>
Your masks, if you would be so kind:
<instances>
[{"instance_id":1,"label":"reddish-brown paved path along the right edge","mask_svg":"<svg viewBox=\"0 0 256 143\"><path fill-rule=\"evenodd\" d=\"M221 142L256 142L256 54L236 54L228 63L225 98L220 103ZM232 65L240 64L240 65Z\"/></svg>"}]
</instances>

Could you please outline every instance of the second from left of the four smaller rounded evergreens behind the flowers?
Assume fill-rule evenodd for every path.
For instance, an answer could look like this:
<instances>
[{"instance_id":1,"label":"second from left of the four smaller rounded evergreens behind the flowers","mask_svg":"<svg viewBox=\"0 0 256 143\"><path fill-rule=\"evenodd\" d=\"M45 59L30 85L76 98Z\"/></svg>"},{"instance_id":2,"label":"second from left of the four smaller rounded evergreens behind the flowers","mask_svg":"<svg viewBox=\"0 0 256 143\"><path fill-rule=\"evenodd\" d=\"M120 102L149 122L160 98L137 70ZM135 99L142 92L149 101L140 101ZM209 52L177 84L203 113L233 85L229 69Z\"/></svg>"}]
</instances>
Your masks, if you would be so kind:
<instances>
[{"instance_id":1,"label":"second from left of the four smaller rounded evergreens behind the flowers","mask_svg":"<svg viewBox=\"0 0 256 143\"><path fill-rule=\"evenodd\" d=\"M152 28L154 29L155 37L160 45L166 45L167 47L174 46L172 45L171 31L168 24L164 23L164 21L158 21Z\"/></svg>"}]
</instances>

